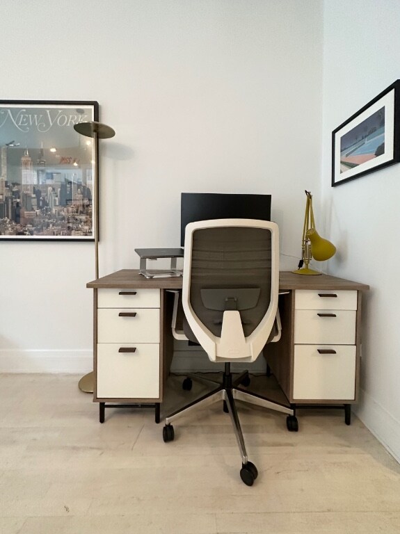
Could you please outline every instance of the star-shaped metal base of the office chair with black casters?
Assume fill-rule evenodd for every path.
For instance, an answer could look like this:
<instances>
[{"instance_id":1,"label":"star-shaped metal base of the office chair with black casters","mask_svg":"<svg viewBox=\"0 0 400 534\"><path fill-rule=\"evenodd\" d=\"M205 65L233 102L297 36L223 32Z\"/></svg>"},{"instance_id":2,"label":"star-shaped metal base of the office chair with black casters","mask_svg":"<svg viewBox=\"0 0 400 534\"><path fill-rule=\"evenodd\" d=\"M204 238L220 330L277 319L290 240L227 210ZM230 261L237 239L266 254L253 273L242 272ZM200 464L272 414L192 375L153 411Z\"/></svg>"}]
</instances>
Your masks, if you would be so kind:
<instances>
[{"instance_id":1,"label":"star-shaped metal base of the office chair with black casters","mask_svg":"<svg viewBox=\"0 0 400 534\"><path fill-rule=\"evenodd\" d=\"M187 380L187 379L185 379ZM282 412L287 414L287 428L291 431L298 430L297 419L294 416L294 410L290 407L269 401L263 396L251 393L241 389L240 385L243 383L248 383L249 381L248 371L244 371L237 378L233 378L233 375L230 370L230 362L225 363L225 371L223 373L223 382L218 386L217 389L203 395L202 397L196 399L192 403L180 408L173 414L170 414L166 417L166 424L163 427L163 440L164 442L172 442L175 437L175 431L173 421L179 418L184 414L191 412L191 410L197 407L206 407L212 405L218 401L223 401L223 410L230 414L230 419L232 421L232 426L234 429L234 435L236 436L237 443L239 445L239 451L241 454L241 470L240 476L243 483L248 486L252 486L255 479L257 478L258 471L257 467L248 460L246 446L244 444L243 432L241 430L239 416L237 414L237 407L235 400L244 401L253 405L261 406L268 408L269 410L274 410L276 412ZM189 384L189 382L186 382ZM190 387L184 387L184 389L191 389Z\"/></svg>"}]
</instances>

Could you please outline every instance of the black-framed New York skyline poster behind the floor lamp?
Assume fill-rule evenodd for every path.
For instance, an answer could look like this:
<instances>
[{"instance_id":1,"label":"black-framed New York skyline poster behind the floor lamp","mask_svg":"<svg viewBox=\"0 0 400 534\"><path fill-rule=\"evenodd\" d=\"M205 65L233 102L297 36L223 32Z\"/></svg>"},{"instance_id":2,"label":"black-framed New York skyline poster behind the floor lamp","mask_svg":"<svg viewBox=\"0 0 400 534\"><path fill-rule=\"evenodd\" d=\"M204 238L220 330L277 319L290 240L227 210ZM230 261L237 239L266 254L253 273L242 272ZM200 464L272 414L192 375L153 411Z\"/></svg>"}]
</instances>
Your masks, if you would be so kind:
<instances>
[{"instance_id":1,"label":"black-framed New York skyline poster behind the floor lamp","mask_svg":"<svg viewBox=\"0 0 400 534\"><path fill-rule=\"evenodd\" d=\"M92 120L97 102L0 101L0 240L94 241Z\"/></svg>"}]
</instances>

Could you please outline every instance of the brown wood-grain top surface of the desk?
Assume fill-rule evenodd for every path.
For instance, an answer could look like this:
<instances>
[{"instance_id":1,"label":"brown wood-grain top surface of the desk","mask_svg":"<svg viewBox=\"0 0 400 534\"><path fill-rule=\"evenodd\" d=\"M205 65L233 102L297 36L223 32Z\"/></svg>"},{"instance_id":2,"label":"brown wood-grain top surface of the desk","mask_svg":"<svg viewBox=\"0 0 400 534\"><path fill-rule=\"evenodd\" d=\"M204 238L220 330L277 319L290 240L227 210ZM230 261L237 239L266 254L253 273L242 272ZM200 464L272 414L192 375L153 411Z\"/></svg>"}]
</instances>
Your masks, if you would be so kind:
<instances>
[{"instance_id":1,"label":"brown wood-grain top surface of the desk","mask_svg":"<svg viewBox=\"0 0 400 534\"><path fill-rule=\"evenodd\" d=\"M145 278L139 275L137 269L121 269L111 275L106 275L92 282L88 282L86 287L93 289L181 289L182 277L173 278ZM296 275L288 270L279 273L280 291L290 291L293 289L355 289L367 291L367 284L344 280L330 275Z\"/></svg>"}]
</instances>

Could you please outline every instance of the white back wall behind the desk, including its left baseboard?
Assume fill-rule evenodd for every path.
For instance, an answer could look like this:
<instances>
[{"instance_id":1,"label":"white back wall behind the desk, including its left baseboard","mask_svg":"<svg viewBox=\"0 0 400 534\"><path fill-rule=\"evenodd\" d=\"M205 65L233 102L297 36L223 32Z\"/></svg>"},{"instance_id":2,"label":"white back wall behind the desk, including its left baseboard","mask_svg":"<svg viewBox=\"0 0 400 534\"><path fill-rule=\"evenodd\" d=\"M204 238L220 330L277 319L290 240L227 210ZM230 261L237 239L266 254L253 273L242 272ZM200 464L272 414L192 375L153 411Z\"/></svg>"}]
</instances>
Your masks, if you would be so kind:
<instances>
[{"instance_id":1,"label":"white back wall behind the desk, including its left baseboard","mask_svg":"<svg viewBox=\"0 0 400 534\"><path fill-rule=\"evenodd\" d=\"M179 245L182 191L272 193L283 268L319 193L318 0L0 3L1 98L97 100L100 275ZM92 243L0 242L0 371L91 369Z\"/></svg>"}]
</instances>

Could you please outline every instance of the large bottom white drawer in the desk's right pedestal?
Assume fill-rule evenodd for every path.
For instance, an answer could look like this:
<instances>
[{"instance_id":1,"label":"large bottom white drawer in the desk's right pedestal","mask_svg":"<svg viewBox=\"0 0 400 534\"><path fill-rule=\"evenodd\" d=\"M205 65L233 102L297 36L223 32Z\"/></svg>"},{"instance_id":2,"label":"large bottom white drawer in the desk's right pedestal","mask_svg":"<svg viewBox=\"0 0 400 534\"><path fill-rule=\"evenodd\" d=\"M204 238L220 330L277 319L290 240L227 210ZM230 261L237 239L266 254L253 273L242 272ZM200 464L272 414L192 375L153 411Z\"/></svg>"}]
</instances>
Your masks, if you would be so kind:
<instances>
[{"instance_id":1,"label":"large bottom white drawer in the desk's right pedestal","mask_svg":"<svg viewBox=\"0 0 400 534\"><path fill-rule=\"evenodd\" d=\"M318 350L334 350L320 354ZM293 397L314 400L349 400L355 395L355 346L294 347Z\"/></svg>"}]
</instances>

